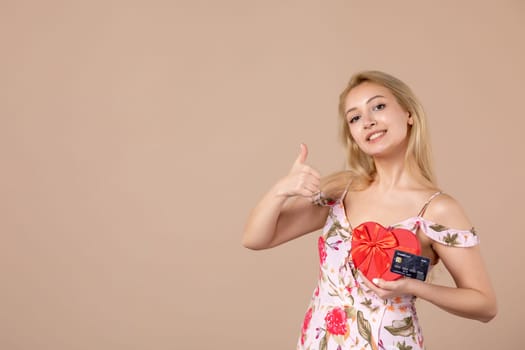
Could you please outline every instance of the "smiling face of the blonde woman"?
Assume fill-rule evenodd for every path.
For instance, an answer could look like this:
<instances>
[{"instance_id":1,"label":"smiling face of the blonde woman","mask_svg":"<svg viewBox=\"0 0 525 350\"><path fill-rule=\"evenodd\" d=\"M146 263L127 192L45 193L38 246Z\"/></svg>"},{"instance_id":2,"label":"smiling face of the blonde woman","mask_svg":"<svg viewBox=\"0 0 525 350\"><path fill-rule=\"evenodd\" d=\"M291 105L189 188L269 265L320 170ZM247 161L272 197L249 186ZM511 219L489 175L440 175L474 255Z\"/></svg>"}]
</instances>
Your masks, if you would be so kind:
<instances>
[{"instance_id":1,"label":"smiling face of the blonde woman","mask_svg":"<svg viewBox=\"0 0 525 350\"><path fill-rule=\"evenodd\" d=\"M383 157L402 152L413 119L384 86L364 82L348 93L345 116L350 133L366 154Z\"/></svg>"}]
</instances>

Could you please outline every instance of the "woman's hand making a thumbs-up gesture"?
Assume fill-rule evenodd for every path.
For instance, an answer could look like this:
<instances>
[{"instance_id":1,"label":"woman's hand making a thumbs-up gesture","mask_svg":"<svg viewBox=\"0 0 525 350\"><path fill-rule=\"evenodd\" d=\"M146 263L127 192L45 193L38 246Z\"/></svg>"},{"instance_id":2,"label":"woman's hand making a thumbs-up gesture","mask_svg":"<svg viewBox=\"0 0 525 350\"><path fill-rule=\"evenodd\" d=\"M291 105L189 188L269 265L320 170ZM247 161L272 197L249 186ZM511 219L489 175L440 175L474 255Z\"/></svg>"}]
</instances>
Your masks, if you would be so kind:
<instances>
[{"instance_id":1,"label":"woman's hand making a thumbs-up gesture","mask_svg":"<svg viewBox=\"0 0 525 350\"><path fill-rule=\"evenodd\" d=\"M280 195L311 198L319 192L321 175L317 170L306 164L307 157L308 147L302 143L301 152L295 159L290 172L280 181Z\"/></svg>"}]
</instances>

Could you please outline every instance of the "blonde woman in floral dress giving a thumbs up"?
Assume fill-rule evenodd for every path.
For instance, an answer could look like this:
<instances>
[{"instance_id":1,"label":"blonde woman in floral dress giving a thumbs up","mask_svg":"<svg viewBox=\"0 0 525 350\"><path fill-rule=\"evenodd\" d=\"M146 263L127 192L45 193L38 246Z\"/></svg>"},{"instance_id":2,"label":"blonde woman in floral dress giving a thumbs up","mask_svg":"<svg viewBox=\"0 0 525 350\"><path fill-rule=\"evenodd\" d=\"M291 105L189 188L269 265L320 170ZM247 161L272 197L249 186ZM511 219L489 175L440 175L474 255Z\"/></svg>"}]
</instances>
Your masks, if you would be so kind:
<instances>
[{"instance_id":1,"label":"blonde woman in floral dress giving a thumbs up","mask_svg":"<svg viewBox=\"0 0 525 350\"><path fill-rule=\"evenodd\" d=\"M341 93L339 112L348 170L321 179L301 145L289 174L253 209L243 236L245 247L266 249L323 228L319 283L297 349L422 349L416 298L491 320L496 298L478 237L458 202L435 185L414 94L388 74L361 72ZM419 255L431 265L441 259L456 287L407 277L369 280L354 251L356 236L371 227L409 232Z\"/></svg>"}]
</instances>

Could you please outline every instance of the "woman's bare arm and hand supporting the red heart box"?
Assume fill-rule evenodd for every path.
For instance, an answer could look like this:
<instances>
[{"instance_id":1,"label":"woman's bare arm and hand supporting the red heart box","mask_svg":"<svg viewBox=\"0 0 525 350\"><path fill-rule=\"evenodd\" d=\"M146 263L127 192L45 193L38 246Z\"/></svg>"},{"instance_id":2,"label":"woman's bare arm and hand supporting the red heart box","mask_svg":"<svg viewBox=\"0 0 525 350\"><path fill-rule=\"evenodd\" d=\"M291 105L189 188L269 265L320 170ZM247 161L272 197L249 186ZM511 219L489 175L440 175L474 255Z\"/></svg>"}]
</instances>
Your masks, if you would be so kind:
<instances>
[{"instance_id":1,"label":"woman's bare arm and hand supporting the red heart box","mask_svg":"<svg viewBox=\"0 0 525 350\"><path fill-rule=\"evenodd\" d=\"M440 198L441 197L441 198ZM442 195L432 202L426 216L433 222L448 227L472 227L461 206L451 197ZM479 246L462 248L433 243L435 252L443 261L456 287L439 286L416 279L397 281L377 280L377 287L366 281L382 298L413 294L458 316L488 322L496 316L496 296L481 257Z\"/></svg>"}]
</instances>

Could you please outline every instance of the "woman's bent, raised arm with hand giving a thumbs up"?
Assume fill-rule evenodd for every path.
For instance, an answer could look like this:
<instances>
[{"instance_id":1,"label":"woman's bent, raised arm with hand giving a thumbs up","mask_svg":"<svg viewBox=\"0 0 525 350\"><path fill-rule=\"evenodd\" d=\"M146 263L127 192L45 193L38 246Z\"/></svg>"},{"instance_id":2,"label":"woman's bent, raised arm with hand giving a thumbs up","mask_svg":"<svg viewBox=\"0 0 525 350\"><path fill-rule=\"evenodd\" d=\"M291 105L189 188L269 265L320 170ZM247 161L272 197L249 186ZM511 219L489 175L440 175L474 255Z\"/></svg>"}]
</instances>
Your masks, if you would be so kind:
<instances>
[{"instance_id":1,"label":"woman's bent, raised arm with hand giving a thumbs up","mask_svg":"<svg viewBox=\"0 0 525 350\"><path fill-rule=\"evenodd\" d=\"M248 217L242 245L266 249L315 231L328 215L327 207L313 205L311 197L319 191L319 173L305 164L306 145L287 176L279 180L259 201Z\"/></svg>"}]
</instances>

